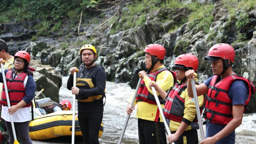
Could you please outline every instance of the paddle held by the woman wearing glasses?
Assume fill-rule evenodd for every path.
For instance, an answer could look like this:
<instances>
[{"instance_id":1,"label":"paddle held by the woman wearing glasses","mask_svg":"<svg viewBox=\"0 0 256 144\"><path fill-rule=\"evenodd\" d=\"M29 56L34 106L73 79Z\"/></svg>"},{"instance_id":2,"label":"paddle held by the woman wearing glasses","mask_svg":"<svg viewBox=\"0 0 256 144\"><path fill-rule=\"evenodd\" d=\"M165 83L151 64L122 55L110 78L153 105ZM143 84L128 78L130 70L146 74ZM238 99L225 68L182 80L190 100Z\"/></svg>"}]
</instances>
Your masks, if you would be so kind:
<instances>
[{"instance_id":1,"label":"paddle held by the woman wearing glasses","mask_svg":"<svg viewBox=\"0 0 256 144\"><path fill-rule=\"evenodd\" d=\"M5 62L5 60L3 60L1 62L1 70L2 70L2 76L3 76L3 80L4 80L4 89L5 89L5 95L6 95L6 101L7 101L7 105L8 105L8 108L11 107L11 104L10 104L10 100L9 100L9 95L8 95L8 89L7 89L7 85L6 85L6 79L5 79L5 74L4 74L4 65L3 65L3 62ZM10 114L10 118L11 118L11 125L12 125L12 133L13 133L13 139L14 139L14 143L13 144L20 144L17 140L17 137L16 137L16 133L15 133L15 128L14 128L14 123L13 123L13 119L12 119L12 115Z\"/></svg>"}]
</instances>

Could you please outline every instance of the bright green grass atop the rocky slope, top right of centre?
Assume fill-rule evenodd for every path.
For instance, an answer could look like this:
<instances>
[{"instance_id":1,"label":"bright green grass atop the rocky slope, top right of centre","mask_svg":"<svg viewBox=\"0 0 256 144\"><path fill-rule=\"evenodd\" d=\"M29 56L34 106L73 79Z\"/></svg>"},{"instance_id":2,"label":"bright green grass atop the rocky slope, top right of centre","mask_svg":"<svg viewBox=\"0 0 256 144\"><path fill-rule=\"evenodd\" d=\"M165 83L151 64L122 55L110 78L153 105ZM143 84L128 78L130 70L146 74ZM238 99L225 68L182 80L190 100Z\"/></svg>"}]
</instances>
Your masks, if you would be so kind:
<instances>
[{"instance_id":1,"label":"bright green grass atop the rocky slope, top right of centre","mask_svg":"<svg viewBox=\"0 0 256 144\"><path fill-rule=\"evenodd\" d=\"M188 16L173 19L172 14L177 11L176 8L185 8L185 11L188 11ZM189 25L191 29L198 24L195 32L204 30L205 33L208 33L209 27L214 20L214 16L211 15L212 9L213 4L200 4L198 2L183 4L179 0L167 0L165 2L161 0L133 1L128 6L128 10L123 12L123 15L109 22L109 25L112 24L110 34L114 34L119 30L136 29L137 27L144 26L146 22L145 16L149 20L162 23L171 21L172 26L168 29L169 32L176 30L186 22L191 22ZM158 11L157 15L151 13L154 11Z\"/></svg>"}]
</instances>

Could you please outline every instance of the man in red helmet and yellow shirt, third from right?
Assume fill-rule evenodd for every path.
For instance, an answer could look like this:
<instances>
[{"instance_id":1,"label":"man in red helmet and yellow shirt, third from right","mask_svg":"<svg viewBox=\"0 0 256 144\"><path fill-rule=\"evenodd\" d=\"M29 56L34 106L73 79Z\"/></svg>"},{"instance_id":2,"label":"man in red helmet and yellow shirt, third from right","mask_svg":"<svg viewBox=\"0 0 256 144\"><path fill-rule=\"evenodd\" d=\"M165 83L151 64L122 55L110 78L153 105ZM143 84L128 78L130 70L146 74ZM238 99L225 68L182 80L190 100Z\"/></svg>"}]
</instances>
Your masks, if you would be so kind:
<instances>
[{"instance_id":1,"label":"man in red helmet and yellow shirt, third from right","mask_svg":"<svg viewBox=\"0 0 256 144\"><path fill-rule=\"evenodd\" d=\"M140 144L163 144L166 143L164 123L153 92L149 88L149 83L154 80L160 88L167 91L174 85L175 80L173 73L163 65L165 49L162 45L149 44L144 52L146 52L145 64L148 72L139 72L139 76L143 80L134 103L134 106L138 104L136 116L138 117L139 142ZM162 108L165 97L166 95L158 96ZM131 114L135 109L135 107L130 107L130 103L126 107L128 114Z\"/></svg>"}]
</instances>

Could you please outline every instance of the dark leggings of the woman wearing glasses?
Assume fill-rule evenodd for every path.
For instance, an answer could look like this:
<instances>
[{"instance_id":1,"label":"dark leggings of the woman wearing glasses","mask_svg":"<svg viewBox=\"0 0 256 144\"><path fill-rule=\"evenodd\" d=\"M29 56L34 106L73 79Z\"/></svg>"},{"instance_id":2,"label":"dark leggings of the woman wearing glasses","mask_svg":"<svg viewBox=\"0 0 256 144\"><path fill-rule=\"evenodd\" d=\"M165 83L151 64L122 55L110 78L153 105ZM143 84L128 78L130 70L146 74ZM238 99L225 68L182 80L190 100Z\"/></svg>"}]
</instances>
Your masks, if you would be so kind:
<instances>
[{"instance_id":1,"label":"dark leggings of the woman wearing glasses","mask_svg":"<svg viewBox=\"0 0 256 144\"><path fill-rule=\"evenodd\" d=\"M13 138L11 122L5 121L5 125L10 136L9 143L12 144L14 141L14 138ZM15 122L14 127L15 127L17 140L20 139L22 144L32 144L32 140L29 137L29 131L28 131L29 121L22 122L22 123Z\"/></svg>"}]
</instances>

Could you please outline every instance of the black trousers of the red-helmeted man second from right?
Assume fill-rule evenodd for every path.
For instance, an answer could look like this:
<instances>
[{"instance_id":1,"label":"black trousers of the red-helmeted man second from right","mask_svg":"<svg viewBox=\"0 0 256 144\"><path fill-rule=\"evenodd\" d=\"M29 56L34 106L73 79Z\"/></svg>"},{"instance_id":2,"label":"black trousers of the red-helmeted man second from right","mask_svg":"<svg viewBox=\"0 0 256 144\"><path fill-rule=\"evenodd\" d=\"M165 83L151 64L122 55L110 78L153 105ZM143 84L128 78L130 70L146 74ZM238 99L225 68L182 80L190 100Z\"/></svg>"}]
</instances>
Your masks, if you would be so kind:
<instances>
[{"instance_id":1,"label":"black trousers of the red-helmeted man second from right","mask_svg":"<svg viewBox=\"0 0 256 144\"><path fill-rule=\"evenodd\" d=\"M175 131L176 132L176 131ZM175 132L171 132L172 134ZM198 136L196 130L184 131L178 140L174 141L175 144L198 144Z\"/></svg>"}]
</instances>

